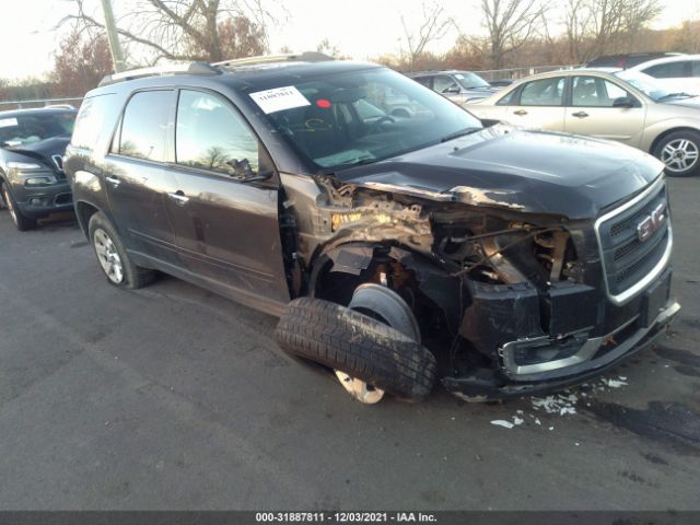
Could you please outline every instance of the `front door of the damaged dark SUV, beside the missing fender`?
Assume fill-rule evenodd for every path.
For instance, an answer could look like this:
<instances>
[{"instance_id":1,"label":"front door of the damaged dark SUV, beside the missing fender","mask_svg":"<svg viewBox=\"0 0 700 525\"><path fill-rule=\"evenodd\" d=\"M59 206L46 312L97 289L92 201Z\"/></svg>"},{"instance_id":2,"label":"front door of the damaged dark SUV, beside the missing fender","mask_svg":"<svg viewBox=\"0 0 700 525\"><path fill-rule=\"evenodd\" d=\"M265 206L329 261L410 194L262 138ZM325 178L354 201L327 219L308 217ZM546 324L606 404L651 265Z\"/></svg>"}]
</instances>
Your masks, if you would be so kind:
<instances>
[{"instance_id":1,"label":"front door of the damaged dark SUV, beside the missing fender","mask_svg":"<svg viewBox=\"0 0 700 525\"><path fill-rule=\"evenodd\" d=\"M168 210L187 269L244 301L289 301L278 177L258 138L226 98L179 91L172 171L177 190Z\"/></svg>"}]
</instances>

